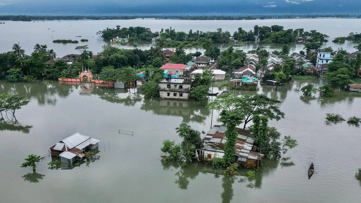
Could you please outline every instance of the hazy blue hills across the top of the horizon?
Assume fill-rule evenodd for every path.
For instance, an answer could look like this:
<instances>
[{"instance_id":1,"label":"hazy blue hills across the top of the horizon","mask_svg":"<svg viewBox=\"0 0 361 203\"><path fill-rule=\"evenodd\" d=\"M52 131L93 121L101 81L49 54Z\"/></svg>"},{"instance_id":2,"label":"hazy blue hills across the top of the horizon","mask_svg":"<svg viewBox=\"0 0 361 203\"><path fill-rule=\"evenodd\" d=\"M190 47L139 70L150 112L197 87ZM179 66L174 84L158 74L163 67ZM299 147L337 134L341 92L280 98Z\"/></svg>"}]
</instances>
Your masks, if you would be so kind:
<instances>
[{"instance_id":1,"label":"hazy blue hills across the top of the horizon","mask_svg":"<svg viewBox=\"0 0 361 203\"><path fill-rule=\"evenodd\" d=\"M361 0L0 0L1 15L361 14Z\"/></svg>"}]
</instances>

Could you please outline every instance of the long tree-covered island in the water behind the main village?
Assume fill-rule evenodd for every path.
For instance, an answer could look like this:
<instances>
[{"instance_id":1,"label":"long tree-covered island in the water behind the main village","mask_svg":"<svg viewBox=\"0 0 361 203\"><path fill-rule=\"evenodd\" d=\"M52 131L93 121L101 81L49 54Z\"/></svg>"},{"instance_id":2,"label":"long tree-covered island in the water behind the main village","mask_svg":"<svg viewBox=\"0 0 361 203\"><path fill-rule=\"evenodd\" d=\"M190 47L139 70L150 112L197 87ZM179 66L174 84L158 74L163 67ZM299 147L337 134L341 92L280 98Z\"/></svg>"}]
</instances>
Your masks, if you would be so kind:
<instances>
[{"instance_id":1,"label":"long tree-covered island in the water behind the main village","mask_svg":"<svg viewBox=\"0 0 361 203\"><path fill-rule=\"evenodd\" d=\"M158 40L161 47L204 47L209 43L229 43L230 37L233 36L234 40L238 43L247 43L255 41L255 36L263 43L295 43L296 37L307 38L307 42L327 42L329 36L319 33L316 30L304 31L304 29L287 29L284 30L283 26L258 26L255 25L253 30L245 31L242 27L239 27L237 31L231 34L229 31L223 31L218 28L216 31L193 31L188 33L183 31L175 31L170 27L169 29L161 29L153 33L151 29L145 27L122 27L116 26L116 28L100 30L97 32L105 40L110 40L116 37L126 38L129 35L129 41L134 42L137 40L148 40L159 37ZM207 40L210 40L208 42Z\"/></svg>"}]
</instances>

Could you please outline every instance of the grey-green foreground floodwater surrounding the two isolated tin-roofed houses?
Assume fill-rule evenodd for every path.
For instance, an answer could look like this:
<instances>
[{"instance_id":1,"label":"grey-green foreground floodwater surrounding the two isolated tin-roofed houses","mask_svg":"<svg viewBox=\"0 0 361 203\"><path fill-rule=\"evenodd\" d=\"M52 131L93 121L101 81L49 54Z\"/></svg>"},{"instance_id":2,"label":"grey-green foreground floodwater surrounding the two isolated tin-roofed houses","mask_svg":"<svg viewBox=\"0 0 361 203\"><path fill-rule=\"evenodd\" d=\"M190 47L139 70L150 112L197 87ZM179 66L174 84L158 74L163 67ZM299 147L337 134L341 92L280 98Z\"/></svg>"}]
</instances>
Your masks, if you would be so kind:
<instances>
[{"instance_id":1,"label":"grey-green foreground floodwater surrounding the two isolated tin-roofed houses","mask_svg":"<svg viewBox=\"0 0 361 203\"><path fill-rule=\"evenodd\" d=\"M162 141L180 142L175 128L181 122L200 131L208 131L211 121L218 124L218 113L212 119L212 111L197 102L147 100L136 88L0 81L0 93L30 100L16 112L17 121L0 124L1 202L360 202L361 129L325 124L328 112L361 117L360 94L336 90L330 99L300 98L307 82L323 83L261 87L259 93L279 99L286 114L269 125L299 145L284 160L265 160L254 181L238 182L198 162L187 168L161 164ZM48 169L47 148L76 132L100 140L99 160ZM29 154L46 157L35 174L20 168ZM311 162L316 172L308 179ZM243 177L246 172L240 170Z\"/></svg>"}]
</instances>

